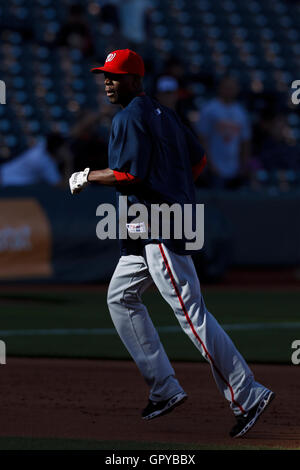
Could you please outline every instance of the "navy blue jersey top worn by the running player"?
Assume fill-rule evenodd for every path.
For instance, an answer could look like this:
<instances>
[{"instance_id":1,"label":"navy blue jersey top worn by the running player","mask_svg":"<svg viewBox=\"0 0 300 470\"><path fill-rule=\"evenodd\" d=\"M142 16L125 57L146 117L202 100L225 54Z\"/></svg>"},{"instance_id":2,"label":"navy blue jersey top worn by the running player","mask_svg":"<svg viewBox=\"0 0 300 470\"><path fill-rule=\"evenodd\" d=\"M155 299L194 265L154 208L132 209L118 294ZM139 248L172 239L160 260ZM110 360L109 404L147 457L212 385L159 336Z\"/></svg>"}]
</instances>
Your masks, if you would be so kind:
<instances>
[{"instance_id":1,"label":"navy blue jersey top worn by the running player","mask_svg":"<svg viewBox=\"0 0 300 470\"><path fill-rule=\"evenodd\" d=\"M195 213L192 167L205 158L205 153L198 138L171 109L147 95L135 97L113 119L108 158L109 168L138 178L137 183L117 186L117 201L124 195L128 206L144 204L149 214L145 222L150 226L151 204L191 204ZM180 240L174 238L172 230L171 225L170 239L164 239L159 230L156 239L149 231L147 239L120 240L121 255L141 254L146 243L160 242L175 253L191 254L185 249L184 228Z\"/></svg>"}]
</instances>

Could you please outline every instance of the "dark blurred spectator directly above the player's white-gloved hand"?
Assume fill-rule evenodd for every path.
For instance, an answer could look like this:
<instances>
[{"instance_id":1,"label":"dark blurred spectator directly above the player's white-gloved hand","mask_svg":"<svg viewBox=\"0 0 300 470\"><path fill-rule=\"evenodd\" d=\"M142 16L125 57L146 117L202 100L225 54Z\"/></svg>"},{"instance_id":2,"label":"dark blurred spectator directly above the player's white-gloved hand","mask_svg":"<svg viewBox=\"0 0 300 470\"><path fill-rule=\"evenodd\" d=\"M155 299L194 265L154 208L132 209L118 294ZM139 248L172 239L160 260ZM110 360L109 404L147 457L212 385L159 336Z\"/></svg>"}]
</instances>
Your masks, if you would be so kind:
<instances>
[{"instance_id":1,"label":"dark blurred spectator directly above the player's white-gloved hand","mask_svg":"<svg viewBox=\"0 0 300 470\"><path fill-rule=\"evenodd\" d=\"M101 135L103 113L86 111L71 131L70 151L73 172L88 167L92 170L106 168L107 141Z\"/></svg>"}]
</instances>

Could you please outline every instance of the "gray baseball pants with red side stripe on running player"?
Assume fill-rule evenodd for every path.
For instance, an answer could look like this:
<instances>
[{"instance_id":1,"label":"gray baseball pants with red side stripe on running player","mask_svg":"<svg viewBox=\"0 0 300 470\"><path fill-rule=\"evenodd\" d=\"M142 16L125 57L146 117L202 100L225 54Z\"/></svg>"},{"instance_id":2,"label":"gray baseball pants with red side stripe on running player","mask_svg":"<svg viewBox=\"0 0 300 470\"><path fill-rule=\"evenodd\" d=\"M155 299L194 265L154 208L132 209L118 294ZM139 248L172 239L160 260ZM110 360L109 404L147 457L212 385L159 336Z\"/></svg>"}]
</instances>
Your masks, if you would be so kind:
<instances>
[{"instance_id":1,"label":"gray baseball pants with red side stripe on running player","mask_svg":"<svg viewBox=\"0 0 300 470\"><path fill-rule=\"evenodd\" d=\"M166 400L183 391L175 378L141 295L155 283L183 331L210 363L216 384L234 414L252 408L266 392L235 345L207 310L191 256L149 244L143 256L122 256L108 288L115 328L150 387L149 398Z\"/></svg>"}]
</instances>

